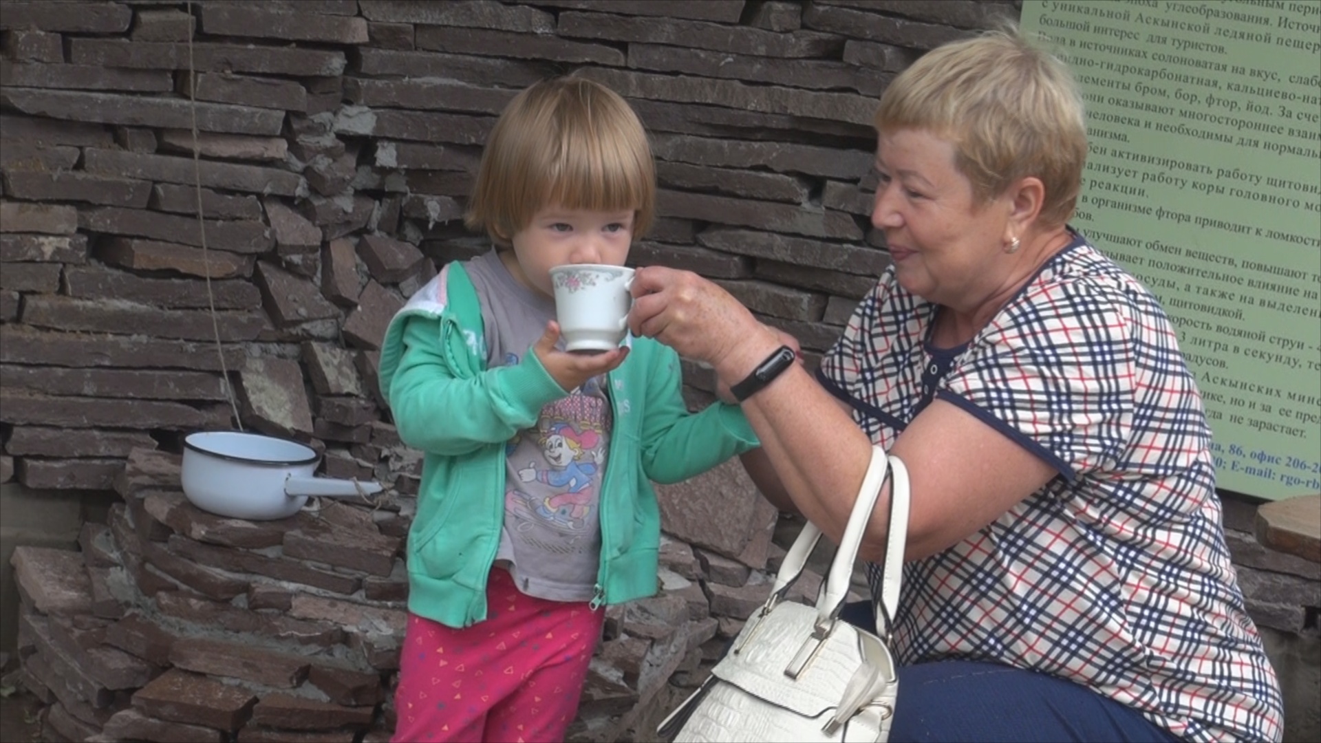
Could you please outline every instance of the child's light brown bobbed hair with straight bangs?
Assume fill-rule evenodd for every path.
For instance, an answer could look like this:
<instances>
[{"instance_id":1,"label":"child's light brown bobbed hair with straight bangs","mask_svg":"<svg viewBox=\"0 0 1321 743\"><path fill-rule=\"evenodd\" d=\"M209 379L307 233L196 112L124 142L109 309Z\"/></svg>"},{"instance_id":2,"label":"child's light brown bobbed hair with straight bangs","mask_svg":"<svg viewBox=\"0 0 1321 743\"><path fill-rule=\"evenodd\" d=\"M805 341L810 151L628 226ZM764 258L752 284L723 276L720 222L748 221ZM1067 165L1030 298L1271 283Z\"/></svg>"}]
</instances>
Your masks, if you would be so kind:
<instances>
[{"instance_id":1,"label":"child's light brown bobbed hair with straight bangs","mask_svg":"<svg viewBox=\"0 0 1321 743\"><path fill-rule=\"evenodd\" d=\"M646 131L620 94L559 77L523 90L491 130L464 223L507 247L547 206L634 210L633 235L651 226L655 163Z\"/></svg>"}]
</instances>

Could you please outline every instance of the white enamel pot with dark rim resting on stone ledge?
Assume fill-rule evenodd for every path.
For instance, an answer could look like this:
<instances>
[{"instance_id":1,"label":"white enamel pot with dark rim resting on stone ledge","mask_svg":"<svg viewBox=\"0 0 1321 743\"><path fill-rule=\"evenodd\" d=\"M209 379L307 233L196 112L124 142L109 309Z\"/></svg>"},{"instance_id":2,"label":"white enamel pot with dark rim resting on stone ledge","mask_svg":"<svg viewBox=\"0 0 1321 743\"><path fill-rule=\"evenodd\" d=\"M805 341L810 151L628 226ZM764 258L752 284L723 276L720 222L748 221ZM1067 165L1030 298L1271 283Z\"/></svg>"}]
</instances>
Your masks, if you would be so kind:
<instances>
[{"instance_id":1,"label":"white enamel pot with dark rim resting on stone ledge","mask_svg":"<svg viewBox=\"0 0 1321 743\"><path fill-rule=\"evenodd\" d=\"M306 444L262 434L205 431L184 438L184 494L202 510L266 521L299 512L309 496L362 497L379 483L314 477L321 456Z\"/></svg>"}]
</instances>

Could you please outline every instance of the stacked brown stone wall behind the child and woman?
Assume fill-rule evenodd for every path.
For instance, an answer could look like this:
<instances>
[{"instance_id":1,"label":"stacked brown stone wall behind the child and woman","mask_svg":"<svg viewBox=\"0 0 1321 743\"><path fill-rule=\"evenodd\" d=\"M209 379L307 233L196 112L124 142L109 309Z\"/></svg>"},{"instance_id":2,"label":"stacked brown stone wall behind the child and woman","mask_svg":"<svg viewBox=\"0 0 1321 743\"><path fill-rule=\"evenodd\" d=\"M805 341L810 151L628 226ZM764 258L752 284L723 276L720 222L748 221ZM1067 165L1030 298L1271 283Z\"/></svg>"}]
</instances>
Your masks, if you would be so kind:
<instances>
[{"instance_id":1,"label":"stacked brown stone wall behind the child and woman","mask_svg":"<svg viewBox=\"0 0 1321 743\"><path fill-rule=\"evenodd\" d=\"M719 280L812 364L886 263L856 188L877 95L923 50L1016 15L7 0L0 483L116 493L79 551L15 551L20 676L45 735L386 739L420 460L380 405L379 341L439 266L485 250L460 215L519 89L576 73L624 94L660 185L630 263ZM692 406L712 399L705 372L686 379ZM388 497L266 524L198 512L178 492L181 438L235 426L308 442L324 473ZM575 740L647 739L782 554L737 464L659 490L663 590L610 611ZM1314 637L1316 578L1246 537L1254 616Z\"/></svg>"}]
</instances>

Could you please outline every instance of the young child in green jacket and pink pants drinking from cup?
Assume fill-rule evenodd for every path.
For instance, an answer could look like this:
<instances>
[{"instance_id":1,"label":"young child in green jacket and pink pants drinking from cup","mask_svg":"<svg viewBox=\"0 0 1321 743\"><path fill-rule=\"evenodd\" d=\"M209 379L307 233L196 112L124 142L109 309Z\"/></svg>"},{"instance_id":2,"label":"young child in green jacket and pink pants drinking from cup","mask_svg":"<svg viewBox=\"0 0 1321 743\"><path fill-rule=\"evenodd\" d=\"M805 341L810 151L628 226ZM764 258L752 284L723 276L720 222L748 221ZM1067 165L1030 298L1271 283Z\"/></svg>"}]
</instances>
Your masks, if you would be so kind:
<instances>
[{"instance_id":1,"label":"young child in green jacket and pink pants drinking from cup","mask_svg":"<svg viewBox=\"0 0 1321 743\"><path fill-rule=\"evenodd\" d=\"M390 323L382 391L425 453L395 740L563 740L601 606L657 591L650 481L758 446L734 406L690 414L678 356L651 338L561 350L548 271L622 266L654 198L629 104L539 82L482 153L466 222L495 249L446 264Z\"/></svg>"}]
</instances>

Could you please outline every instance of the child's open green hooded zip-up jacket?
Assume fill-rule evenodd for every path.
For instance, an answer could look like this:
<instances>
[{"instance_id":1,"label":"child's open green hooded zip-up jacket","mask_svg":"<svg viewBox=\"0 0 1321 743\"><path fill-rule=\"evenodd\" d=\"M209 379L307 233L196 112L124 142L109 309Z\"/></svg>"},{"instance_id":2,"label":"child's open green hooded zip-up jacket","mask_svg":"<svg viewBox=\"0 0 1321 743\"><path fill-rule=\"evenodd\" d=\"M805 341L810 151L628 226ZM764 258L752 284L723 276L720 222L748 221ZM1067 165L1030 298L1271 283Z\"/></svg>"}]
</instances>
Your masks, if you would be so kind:
<instances>
[{"instance_id":1,"label":"child's open green hooded zip-up jacket","mask_svg":"<svg viewBox=\"0 0 1321 743\"><path fill-rule=\"evenodd\" d=\"M390 321L379 372L399 438L424 453L408 533L408 611L469 627L486 619L486 576L505 520L505 444L568 393L535 353L486 369L481 304L457 262ZM609 373L614 427L593 604L657 591L660 512L651 481L678 483L760 446L737 406L690 414L680 383L679 356L651 338L631 338Z\"/></svg>"}]
</instances>

